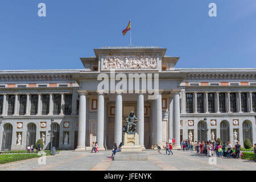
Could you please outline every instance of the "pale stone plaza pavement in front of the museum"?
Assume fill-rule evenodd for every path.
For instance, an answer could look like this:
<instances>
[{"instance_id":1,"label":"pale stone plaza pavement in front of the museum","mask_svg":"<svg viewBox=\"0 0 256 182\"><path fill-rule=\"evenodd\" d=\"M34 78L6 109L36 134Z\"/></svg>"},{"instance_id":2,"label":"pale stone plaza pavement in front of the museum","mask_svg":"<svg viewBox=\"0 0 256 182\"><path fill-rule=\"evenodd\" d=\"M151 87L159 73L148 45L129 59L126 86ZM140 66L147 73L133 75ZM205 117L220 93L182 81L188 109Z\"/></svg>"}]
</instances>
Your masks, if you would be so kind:
<instances>
[{"instance_id":1,"label":"pale stone plaza pavement in front of the museum","mask_svg":"<svg viewBox=\"0 0 256 182\"><path fill-rule=\"evenodd\" d=\"M251 160L216 158L216 163L203 154L195 151L177 151L174 155L158 155L157 151L147 150L146 161L114 161L110 159L112 151L100 151L94 154L89 151L61 151L55 156L46 156L46 164L38 164L38 158L19 162L0 164L1 171L179 171L179 170L256 170L256 163Z\"/></svg>"}]
</instances>

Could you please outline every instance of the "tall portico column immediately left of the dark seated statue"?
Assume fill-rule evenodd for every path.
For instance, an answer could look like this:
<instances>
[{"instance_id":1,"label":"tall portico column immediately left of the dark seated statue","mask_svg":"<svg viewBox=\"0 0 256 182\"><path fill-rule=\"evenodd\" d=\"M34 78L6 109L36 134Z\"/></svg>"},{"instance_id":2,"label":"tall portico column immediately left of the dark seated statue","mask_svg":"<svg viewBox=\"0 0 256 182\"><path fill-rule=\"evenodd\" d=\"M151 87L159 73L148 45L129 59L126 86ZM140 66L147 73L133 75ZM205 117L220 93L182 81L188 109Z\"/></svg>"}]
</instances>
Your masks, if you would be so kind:
<instances>
[{"instance_id":1,"label":"tall portico column immediately left of the dark seated statue","mask_svg":"<svg viewBox=\"0 0 256 182\"><path fill-rule=\"evenodd\" d=\"M114 143L122 142L122 91L116 90L115 91L115 136L114 136Z\"/></svg>"}]
</instances>

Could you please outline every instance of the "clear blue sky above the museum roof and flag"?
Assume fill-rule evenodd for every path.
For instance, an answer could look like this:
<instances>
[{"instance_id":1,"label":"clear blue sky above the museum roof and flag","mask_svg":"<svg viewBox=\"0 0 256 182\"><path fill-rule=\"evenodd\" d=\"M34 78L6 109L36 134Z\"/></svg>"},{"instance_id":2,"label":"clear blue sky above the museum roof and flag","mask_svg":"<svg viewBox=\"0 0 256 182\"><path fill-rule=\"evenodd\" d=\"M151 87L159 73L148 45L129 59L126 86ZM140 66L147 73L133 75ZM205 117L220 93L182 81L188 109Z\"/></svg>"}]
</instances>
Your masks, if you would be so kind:
<instances>
[{"instance_id":1,"label":"clear blue sky above the museum roof and flag","mask_svg":"<svg viewBox=\"0 0 256 182\"><path fill-rule=\"evenodd\" d=\"M0 69L82 69L93 48L128 46L130 18L133 46L167 48L177 68L256 67L255 0L1 0Z\"/></svg>"}]
</instances>

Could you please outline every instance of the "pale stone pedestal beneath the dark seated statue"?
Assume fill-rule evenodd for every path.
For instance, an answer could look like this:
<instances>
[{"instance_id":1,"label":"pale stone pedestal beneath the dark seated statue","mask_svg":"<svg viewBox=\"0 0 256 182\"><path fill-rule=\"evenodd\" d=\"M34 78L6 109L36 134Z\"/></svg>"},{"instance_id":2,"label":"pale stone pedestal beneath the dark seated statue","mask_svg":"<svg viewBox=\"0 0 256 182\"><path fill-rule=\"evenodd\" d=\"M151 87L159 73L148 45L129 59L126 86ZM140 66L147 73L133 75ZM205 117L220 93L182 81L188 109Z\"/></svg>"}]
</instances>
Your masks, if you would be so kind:
<instances>
[{"instance_id":1,"label":"pale stone pedestal beneath the dark seated statue","mask_svg":"<svg viewBox=\"0 0 256 182\"><path fill-rule=\"evenodd\" d=\"M135 134L123 134L123 146L121 152L141 152L142 147L139 145L139 135Z\"/></svg>"}]
</instances>

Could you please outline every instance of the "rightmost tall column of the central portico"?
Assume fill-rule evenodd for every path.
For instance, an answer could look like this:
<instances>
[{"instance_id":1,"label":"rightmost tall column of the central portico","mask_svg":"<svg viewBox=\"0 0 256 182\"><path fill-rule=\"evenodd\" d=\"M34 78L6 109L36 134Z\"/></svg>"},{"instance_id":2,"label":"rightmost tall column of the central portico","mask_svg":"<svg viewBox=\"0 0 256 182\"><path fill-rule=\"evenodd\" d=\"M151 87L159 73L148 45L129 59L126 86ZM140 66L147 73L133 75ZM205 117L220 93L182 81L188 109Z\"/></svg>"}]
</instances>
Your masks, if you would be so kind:
<instances>
[{"instance_id":1,"label":"rightmost tall column of the central portico","mask_svg":"<svg viewBox=\"0 0 256 182\"><path fill-rule=\"evenodd\" d=\"M178 92L174 93L172 111L172 135L175 138L174 148L180 149L180 95Z\"/></svg>"}]
</instances>

